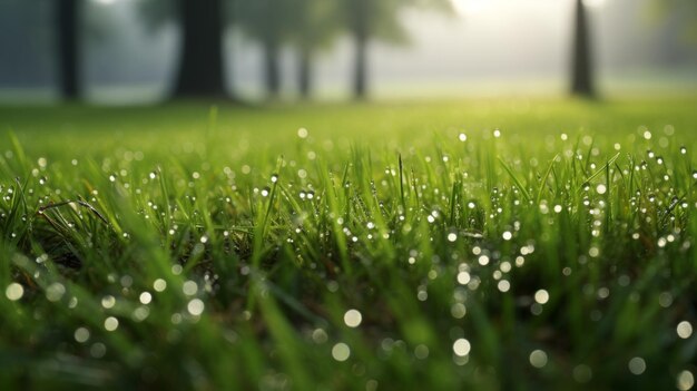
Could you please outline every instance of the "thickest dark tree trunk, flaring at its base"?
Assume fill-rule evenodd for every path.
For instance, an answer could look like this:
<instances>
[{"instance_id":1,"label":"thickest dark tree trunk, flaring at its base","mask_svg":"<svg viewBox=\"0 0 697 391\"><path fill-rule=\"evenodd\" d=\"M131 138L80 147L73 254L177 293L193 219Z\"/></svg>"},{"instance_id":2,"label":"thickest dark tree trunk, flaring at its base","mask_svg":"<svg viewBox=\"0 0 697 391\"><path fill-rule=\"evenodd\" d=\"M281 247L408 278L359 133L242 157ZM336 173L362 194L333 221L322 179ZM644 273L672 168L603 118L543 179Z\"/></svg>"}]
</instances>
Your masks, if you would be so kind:
<instances>
[{"instance_id":1,"label":"thickest dark tree trunk, flaring at its base","mask_svg":"<svg viewBox=\"0 0 697 391\"><path fill-rule=\"evenodd\" d=\"M222 0L179 0L181 59L173 96L226 95L223 70Z\"/></svg>"}]
</instances>

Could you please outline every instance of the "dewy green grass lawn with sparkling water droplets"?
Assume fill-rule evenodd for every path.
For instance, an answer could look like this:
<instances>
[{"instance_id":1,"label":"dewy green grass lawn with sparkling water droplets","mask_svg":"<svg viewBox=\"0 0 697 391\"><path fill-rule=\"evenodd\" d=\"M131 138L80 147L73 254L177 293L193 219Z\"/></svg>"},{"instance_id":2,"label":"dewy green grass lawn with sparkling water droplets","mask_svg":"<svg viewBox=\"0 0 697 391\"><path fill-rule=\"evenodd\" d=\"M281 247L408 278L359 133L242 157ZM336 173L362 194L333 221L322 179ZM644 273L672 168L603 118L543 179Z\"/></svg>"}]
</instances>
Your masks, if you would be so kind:
<instances>
[{"instance_id":1,"label":"dewy green grass lawn with sparkling water droplets","mask_svg":"<svg viewBox=\"0 0 697 391\"><path fill-rule=\"evenodd\" d=\"M688 390L695 107L0 108L0 389Z\"/></svg>"}]
</instances>

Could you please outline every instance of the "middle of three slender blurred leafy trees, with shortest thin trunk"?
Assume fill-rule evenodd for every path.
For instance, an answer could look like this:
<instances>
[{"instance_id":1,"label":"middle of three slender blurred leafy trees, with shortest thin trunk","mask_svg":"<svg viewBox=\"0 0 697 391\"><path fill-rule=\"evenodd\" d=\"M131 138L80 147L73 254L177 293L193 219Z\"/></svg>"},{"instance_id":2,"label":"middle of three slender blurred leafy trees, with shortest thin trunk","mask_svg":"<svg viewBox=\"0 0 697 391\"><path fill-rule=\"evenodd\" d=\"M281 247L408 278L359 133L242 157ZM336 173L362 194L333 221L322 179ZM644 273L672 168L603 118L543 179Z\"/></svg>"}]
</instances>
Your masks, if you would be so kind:
<instances>
[{"instance_id":1,"label":"middle of three slender blurred leafy trees, with shortest thin trunk","mask_svg":"<svg viewBox=\"0 0 697 391\"><path fill-rule=\"evenodd\" d=\"M335 41L341 25L337 0L292 0L291 41L297 50L297 86L303 99L312 94L312 63L316 52Z\"/></svg>"}]
</instances>

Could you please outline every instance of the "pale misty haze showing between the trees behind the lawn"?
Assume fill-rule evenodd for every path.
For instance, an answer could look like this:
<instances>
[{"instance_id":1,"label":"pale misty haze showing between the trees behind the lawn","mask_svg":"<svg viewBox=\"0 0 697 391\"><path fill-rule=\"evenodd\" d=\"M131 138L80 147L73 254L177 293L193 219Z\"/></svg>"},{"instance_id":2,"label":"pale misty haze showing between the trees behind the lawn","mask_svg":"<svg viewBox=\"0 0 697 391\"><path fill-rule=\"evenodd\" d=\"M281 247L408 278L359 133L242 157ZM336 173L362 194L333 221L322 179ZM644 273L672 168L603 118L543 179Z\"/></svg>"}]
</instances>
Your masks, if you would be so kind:
<instances>
[{"instance_id":1,"label":"pale misty haze showing between the trees behind the lawn","mask_svg":"<svg viewBox=\"0 0 697 391\"><path fill-rule=\"evenodd\" d=\"M180 27L154 28L147 0L89 0L81 43L86 96L99 102L165 98L180 53ZM587 0L598 89L603 95L697 91L696 16L657 11L657 0ZM452 0L453 12L404 8L401 45L369 43L373 97L560 95L569 88L572 0ZM0 100L58 98L51 0L0 0ZM695 8L689 8L695 10ZM237 23L225 30L228 90L264 96L262 46ZM350 96L348 37L317 55L314 97ZM297 95L296 52L281 50L281 97Z\"/></svg>"}]
</instances>

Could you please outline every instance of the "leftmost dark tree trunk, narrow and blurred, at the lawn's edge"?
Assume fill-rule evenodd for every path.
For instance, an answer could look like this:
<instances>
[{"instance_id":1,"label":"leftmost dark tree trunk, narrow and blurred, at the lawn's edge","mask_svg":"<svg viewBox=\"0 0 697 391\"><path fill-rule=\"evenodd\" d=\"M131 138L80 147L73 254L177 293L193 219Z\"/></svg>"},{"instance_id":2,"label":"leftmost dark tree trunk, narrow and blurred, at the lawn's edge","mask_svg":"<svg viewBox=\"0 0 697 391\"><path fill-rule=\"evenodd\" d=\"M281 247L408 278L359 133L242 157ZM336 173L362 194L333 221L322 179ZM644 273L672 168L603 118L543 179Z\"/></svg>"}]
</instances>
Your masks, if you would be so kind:
<instances>
[{"instance_id":1,"label":"leftmost dark tree trunk, narrow and blurred, at the lawn's edge","mask_svg":"<svg viewBox=\"0 0 697 391\"><path fill-rule=\"evenodd\" d=\"M82 94L80 79L80 0L60 0L57 6L59 89L63 99L77 99Z\"/></svg>"}]
</instances>

